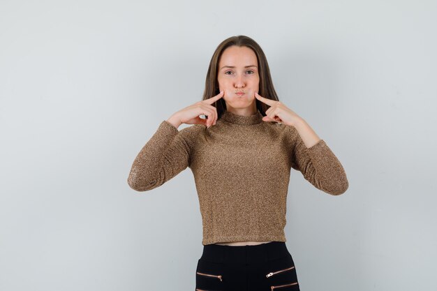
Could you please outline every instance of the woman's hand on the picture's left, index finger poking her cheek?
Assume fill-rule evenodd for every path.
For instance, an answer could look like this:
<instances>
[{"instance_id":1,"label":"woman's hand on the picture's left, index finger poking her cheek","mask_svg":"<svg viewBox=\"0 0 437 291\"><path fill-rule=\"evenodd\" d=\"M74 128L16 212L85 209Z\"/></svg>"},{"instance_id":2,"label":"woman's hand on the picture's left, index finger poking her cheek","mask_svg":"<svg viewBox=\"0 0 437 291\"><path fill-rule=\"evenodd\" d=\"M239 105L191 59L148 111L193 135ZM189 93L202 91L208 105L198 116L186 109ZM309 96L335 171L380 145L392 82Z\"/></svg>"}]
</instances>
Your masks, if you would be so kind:
<instances>
[{"instance_id":1,"label":"woman's hand on the picture's left, index finger poking her cheek","mask_svg":"<svg viewBox=\"0 0 437 291\"><path fill-rule=\"evenodd\" d=\"M193 105L185 107L178 112L175 112L169 119L170 124L173 124L175 128L178 128L181 124L202 124L209 128L216 124L218 114L216 107L212 106L212 103L223 97L224 92L221 91L216 96L207 100L201 100ZM205 114L207 118L201 119L200 115Z\"/></svg>"}]
</instances>

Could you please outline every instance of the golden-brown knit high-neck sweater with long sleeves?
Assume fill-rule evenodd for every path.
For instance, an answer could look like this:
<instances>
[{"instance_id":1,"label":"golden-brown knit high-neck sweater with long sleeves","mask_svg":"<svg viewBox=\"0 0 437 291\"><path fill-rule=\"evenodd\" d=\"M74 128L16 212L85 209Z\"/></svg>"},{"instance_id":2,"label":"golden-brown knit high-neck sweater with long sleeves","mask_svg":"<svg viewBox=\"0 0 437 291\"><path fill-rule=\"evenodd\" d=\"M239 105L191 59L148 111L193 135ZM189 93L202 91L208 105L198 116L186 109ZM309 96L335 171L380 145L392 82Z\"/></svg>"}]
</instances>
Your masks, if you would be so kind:
<instances>
[{"instance_id":1,"label":"golden-brown knit high-neck sweater with long sleeves","mask_svg":"<svg viewBox=\"0 0 437 291\"><path fill-rule=\"evenodd\" d=\"M216 125L178 130L162 121L128 175L135 191L161 186L190 167L202 215L202 244L286 241L286 198L291 168L332 195L348 179L324 140L306 148L294 126L223 112Z\"/></svg>"}]
</instances>

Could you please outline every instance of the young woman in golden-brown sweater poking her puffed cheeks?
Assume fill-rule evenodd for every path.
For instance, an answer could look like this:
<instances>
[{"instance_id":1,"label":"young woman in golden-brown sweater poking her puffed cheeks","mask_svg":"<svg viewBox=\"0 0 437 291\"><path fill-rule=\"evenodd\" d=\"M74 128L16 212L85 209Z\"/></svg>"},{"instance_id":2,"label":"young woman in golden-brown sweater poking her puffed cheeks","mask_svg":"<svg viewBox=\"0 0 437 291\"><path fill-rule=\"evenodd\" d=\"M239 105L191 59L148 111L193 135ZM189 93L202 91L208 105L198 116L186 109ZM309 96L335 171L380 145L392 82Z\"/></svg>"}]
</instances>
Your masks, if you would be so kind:
<instances>
[{"instance_id":1,"label":"young woman in golden-brown sweater poking her puffed cheeks","mask_svg":"<svg viewBox=\"0 0 437 291\"><path fill-rule=\"evenodd\" d=\"M203 99L161 122L128 184L149 191L186 167L202 214L196 290L299 290L283 231L290 170L331 195L348 179L325 141L279 101L265 54L247 36L218 45Z\"/></svg>"}]
</instances>

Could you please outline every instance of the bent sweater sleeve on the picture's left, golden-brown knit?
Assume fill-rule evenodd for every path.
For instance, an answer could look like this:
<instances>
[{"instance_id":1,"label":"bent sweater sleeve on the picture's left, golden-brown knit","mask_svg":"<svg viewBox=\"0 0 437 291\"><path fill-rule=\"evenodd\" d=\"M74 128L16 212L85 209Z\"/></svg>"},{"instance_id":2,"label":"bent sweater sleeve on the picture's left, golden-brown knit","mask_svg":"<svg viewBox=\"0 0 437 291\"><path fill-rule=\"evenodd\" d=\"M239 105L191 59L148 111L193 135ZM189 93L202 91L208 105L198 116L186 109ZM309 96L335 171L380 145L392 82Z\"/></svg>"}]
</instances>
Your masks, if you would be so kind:
<instances>
[{"instance_id":1,"label":"bent sweater sleeve on the picture's left, golden-brown knit","mask_svg":"<svg viewBox=\"0 0 437 291\"><path fill-rule=\"evenodd\" d=\"M149 191L161 186L186 169L190 147L181 133L168 121L162 121L150 140L133 161L128 184L135 191Z\"/></svg>"}]
</instances>

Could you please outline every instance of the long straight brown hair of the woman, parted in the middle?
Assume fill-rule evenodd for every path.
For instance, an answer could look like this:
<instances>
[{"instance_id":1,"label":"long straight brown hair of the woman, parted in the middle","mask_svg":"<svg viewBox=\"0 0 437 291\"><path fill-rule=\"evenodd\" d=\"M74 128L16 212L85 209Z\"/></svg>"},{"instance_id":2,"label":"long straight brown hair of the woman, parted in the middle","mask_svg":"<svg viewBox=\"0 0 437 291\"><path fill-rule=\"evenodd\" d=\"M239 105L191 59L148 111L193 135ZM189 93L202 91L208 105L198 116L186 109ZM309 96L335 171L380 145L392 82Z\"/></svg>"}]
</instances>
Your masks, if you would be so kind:
<instances>
[{"instance_id":1,"label":"long straight brown hair of the woman, parted in the middle","mask_svg":"<svg viewBox=\"0 0 437 291\"><path fill-rule=\"evenodd\" d=\"M223 40L220 45L216 48L214 54L212 55L211 61L209 61L209 68L207 72L207 77L205 80L205 91L203 91L202 100L207 100L216 96L220 91L218 91L218 61L220 61L221 54L230 46L237 45L239 47L249 47L256 54L256 59L258 60L258 72L260 75L260 86L258 94L260 96L269 98L272 100L279 101L276 91L273 87L272 76L270 75L269 64L267 63L267 58L262 51L260 45L255 42L249 36L231 36ZM255 100L256 108L265 116L265 111L269 109L269 105ZM216 107L218 118L221 117L223 111L226 110L226 103L223 98L220 98L212 104Z\"/></svg>"}]
</instances>

